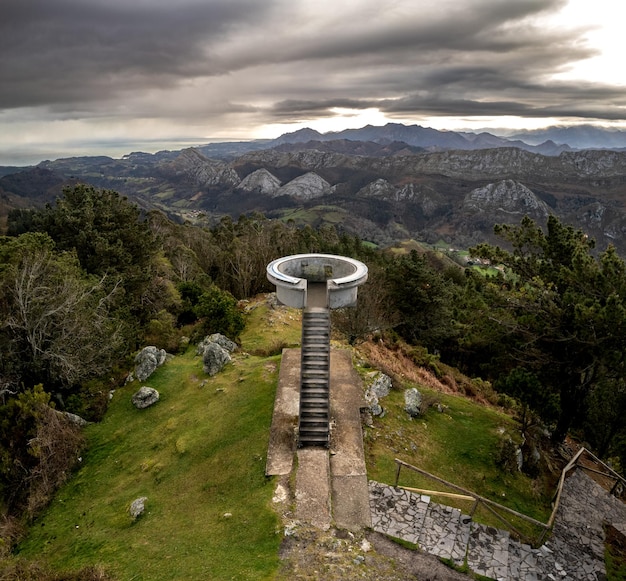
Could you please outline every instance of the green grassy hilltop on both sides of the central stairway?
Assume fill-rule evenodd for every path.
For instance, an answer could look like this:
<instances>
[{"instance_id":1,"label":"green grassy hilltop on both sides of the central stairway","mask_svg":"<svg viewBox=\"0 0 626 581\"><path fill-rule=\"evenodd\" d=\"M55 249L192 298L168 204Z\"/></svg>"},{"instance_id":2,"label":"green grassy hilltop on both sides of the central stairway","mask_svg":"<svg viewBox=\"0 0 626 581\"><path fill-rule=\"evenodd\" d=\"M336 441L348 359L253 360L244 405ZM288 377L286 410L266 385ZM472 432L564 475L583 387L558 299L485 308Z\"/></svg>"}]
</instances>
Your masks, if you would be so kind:
<instances>
[{"instance_id":1,"label":"green grassy hilltop on both sides of the central stairway","mask_svg":"<svg viewBox=\"0 0 626 581\"><path fill-rule=\"evenodd\" d=\"M113 395L104 421L87 428L80 470L32 527L20 556L58 570L100 565L119 581L283 578L276 482L264 470L276 353L298 344L300 314L264 301L247 310L242 352L216 377L203 373L190 349L144 382L161 394L153 407L131 404L136 382ZM369 477L393 483L399 457L541 518L544 497L532 481L495 466L499 439L514 432L511 418L415 385L445 412L410 420L402 391L392 391L382 402L386 416L365 431ZM401 484L426 483L403 475ZM128 507L141 496L146 511L133 522Z\"/></svg>"}]
</instances>

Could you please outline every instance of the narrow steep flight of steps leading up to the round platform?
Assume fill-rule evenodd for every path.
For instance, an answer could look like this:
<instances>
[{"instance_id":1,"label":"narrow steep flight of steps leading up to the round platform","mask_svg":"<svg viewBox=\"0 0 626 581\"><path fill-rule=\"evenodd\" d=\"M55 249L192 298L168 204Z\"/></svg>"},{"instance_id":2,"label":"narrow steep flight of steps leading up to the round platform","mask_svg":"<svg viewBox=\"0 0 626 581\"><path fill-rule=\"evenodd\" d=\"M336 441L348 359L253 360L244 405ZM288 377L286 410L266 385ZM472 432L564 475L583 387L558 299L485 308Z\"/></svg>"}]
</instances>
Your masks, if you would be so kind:
<instances>
[{"instance_id":1,"label":"narrow steep flight of steps leading up to the round platform","mask_svg":"<svg viewBox=\"0 0 626 581\"><path fill-rule=\"evenodd\" d=\"M323 307L302 313L299 447L328 447L330 312Z\"/></svg>"}]
</instances>

